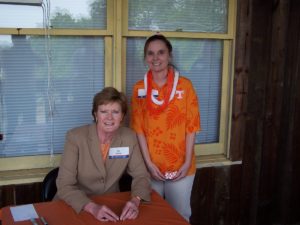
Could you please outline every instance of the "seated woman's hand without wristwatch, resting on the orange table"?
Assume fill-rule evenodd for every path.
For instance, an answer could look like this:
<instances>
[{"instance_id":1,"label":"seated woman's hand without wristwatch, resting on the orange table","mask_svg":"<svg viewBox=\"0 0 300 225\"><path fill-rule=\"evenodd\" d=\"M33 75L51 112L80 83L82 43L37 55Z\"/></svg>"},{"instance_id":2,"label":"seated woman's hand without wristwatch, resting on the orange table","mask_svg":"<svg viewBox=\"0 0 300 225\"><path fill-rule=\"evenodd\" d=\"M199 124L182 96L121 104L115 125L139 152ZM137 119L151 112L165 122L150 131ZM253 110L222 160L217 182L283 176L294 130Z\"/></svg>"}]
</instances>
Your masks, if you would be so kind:
<instances>
[{"instance_id":1,"label":"seated woman's hand without wristwatch, resting on the orange table","mask_svg":"<svg viewBox=\"0 0 300 225\"><path fill-rule=\"evenodd\" d=\"M120 218L106 205L98 205L94 202L89 202L84 206L84 210L91 213L100 221L119 221Z\"/></svg>"}]
</instances>

